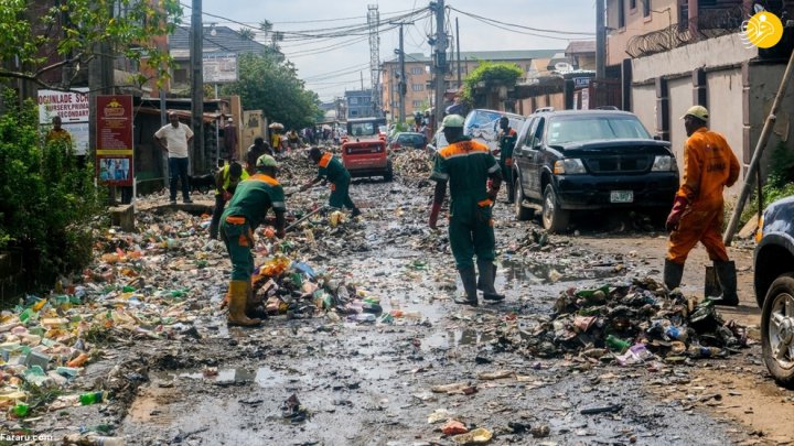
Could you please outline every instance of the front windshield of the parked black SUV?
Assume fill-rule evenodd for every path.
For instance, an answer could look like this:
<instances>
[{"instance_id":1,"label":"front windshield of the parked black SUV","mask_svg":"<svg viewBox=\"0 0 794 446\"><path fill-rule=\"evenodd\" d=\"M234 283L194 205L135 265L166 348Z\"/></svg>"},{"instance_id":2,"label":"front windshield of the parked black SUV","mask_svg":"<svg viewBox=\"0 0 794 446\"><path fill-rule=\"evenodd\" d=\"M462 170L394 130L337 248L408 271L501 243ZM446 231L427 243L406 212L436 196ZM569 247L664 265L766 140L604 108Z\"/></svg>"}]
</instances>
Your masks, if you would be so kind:
<instances>
[{"instance_id":1,"label":"front windshield of the parked black SUV","mask_svg":"<svg viewBox=\"0 0 794 446\"><path fill-rule=\"evenodd\" d=\"M546 137L549 145L597 140L651 139L640 120L632 116L559 117L549 122Z\"/></svg>"}]
</instances>

